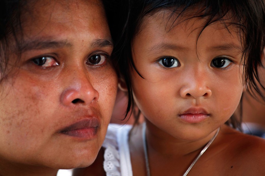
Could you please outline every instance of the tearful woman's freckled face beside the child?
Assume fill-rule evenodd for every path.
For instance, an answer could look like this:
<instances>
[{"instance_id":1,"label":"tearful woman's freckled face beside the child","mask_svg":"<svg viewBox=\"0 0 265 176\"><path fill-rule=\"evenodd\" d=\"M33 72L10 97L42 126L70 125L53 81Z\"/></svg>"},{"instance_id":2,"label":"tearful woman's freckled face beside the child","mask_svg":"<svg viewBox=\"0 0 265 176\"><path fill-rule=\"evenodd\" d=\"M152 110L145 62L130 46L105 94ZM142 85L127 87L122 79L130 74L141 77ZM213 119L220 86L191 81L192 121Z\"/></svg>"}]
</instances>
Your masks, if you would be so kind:
<instances>
[{"instance_id":1,"label":"tearful woman's freckled face beside the child","mask_svg":"<svg viewBox=\"0 0 265 176\"><path fill-rule=\"evenodd\" d=\"M117 92L100 1L28 3L21 57L1 82L0 158L52 168L92 164Z\"/></svg>"}]
</instances>

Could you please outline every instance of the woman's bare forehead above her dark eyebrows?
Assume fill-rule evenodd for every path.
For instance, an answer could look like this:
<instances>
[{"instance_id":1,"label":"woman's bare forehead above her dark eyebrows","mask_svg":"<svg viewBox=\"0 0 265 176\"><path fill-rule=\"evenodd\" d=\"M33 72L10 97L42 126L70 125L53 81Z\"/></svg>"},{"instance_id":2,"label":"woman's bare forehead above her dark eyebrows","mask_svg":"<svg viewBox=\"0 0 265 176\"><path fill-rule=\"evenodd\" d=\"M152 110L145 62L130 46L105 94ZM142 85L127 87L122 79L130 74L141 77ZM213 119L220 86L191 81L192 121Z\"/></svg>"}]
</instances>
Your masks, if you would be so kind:
<instances>
[{"instance_id":1,"label":"woman's bare forehead above her dark eyebrows","mask_svg":"<svg viewBox=\"0 0 265 176\"><path fill-rule=\"evenodd\" d=\"M71 39L77 35L110 39L104 7L100 1L44 0L34 2L32 9L21 15L21 45L24 41L40 39L71 43Z\"/></svg>"}]
</instances>

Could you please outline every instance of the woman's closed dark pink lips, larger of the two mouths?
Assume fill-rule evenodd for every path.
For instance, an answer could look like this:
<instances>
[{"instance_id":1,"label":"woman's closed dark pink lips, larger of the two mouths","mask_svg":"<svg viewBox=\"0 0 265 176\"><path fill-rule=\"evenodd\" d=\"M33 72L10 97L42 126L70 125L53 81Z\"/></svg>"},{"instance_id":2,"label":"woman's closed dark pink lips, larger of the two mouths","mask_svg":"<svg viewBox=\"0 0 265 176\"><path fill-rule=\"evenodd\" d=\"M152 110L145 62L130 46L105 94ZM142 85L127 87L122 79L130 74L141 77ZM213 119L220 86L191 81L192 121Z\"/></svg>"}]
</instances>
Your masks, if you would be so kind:
<instances>
[{"instance_id":1,"label":"woman's closed dark pink lips, larger of the two mouths","mask_svg":"<svg viewBox=\"0 0 265 176\"><path fill-rule=\"evenodd\" d=\"M59 133L77 138L90 139L96 136L99 127L97 118L86 118L60 130Z\"/></svg>"}]
</instances>

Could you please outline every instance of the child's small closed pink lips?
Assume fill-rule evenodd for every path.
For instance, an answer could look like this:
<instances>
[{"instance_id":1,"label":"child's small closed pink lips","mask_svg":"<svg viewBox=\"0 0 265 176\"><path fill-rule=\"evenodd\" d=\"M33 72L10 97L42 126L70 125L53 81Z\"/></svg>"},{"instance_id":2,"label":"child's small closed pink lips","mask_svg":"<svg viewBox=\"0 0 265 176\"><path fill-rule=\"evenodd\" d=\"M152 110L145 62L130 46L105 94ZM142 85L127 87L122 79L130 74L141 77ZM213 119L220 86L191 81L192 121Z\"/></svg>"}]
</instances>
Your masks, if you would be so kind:
<instances>
[{"instance_id":1,"label":"child's small closed pink lips","mask_svg":"<svg viewBox=\"0 0 265 176\"><path fill-rule=\"evenodd\" d=\"M210 115L203 108L190 108L178 116L180 119L188 123L200 123Z\"/></svg>"}]
</instances>

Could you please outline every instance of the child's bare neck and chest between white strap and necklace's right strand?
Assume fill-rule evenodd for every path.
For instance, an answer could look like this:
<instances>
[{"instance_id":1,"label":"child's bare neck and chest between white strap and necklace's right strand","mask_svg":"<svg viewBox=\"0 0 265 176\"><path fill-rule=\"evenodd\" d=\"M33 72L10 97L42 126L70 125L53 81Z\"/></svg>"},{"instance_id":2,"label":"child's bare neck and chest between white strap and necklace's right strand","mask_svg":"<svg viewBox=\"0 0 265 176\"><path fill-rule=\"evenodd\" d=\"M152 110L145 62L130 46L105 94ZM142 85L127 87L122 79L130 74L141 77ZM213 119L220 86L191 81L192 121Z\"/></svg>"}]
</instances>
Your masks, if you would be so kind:
<instances>
[{"instance_id":1,"label":"child's bare neck and chest between white strap and necklace's right strand","mask_svg":"<svg viewBox=\"0 0 265 176\"><path fill-rule=\"evenodd\" d=\"M184 174L191 165L191 162L193 162L203 147L216 133L215 130L206 138L191 142L176 139L148 121L146 121L146 126L147 154L150 171L153 174L156 173L155 175L162 175L165 171L168 175ZM215 140L214 142L217 141ZM146 175L142 125L135 126L132 129L129 143L133 174ZM206 155L208 155L208 152L203 154L202 157Z\"/></svg>"}]
</instances>

